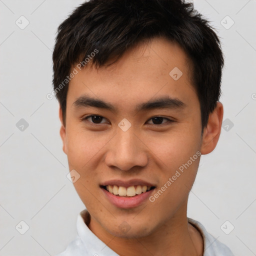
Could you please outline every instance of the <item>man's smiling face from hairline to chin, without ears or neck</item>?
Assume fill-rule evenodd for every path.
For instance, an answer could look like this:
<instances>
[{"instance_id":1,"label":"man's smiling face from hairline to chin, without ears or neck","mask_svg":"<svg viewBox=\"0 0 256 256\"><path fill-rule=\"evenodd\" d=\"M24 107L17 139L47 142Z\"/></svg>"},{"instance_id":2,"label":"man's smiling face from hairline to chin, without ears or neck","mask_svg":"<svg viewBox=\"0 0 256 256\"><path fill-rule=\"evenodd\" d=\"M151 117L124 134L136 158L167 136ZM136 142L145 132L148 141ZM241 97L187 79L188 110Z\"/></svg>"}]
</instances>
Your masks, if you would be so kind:
<instances>
[{"instance_id":1,"label":"man's smiling face from hairline to chin, without ears or neck","mask_svg":"<svg viewBox=\"0 0 256 256\"><path fill-rule=\"evenodd\" d=\"M80 70L69 82L60 134L92 225L142 237L185 216L202 137L178 44L155 38L108 67Z\"/></svg>"}]
</instances>

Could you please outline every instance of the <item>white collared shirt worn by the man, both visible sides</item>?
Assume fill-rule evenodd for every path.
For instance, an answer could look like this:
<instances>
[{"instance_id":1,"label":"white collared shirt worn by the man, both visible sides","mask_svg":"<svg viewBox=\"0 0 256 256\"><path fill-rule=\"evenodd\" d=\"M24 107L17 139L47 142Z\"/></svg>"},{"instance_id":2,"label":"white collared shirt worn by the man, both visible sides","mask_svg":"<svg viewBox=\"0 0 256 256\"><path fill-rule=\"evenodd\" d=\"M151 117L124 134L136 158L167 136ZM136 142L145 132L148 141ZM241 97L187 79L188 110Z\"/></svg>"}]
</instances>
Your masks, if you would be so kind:
<instances>
[{"instance_id":1,"label":"white collared shirt worn by the man, both visible sides","mask_svg":"<svg viewBox=\"0 0 256 256\"><path fill-rule=\"evenodd\" d=\"M231 250L208 233L200 222L191 218L187 220L199 230L203 237L203 256L234 256ZM88 228L85 224L88 221L89 213L84 209L77 217L77 237L56 256L118 256Z\"/></svg>"}]
</instances>

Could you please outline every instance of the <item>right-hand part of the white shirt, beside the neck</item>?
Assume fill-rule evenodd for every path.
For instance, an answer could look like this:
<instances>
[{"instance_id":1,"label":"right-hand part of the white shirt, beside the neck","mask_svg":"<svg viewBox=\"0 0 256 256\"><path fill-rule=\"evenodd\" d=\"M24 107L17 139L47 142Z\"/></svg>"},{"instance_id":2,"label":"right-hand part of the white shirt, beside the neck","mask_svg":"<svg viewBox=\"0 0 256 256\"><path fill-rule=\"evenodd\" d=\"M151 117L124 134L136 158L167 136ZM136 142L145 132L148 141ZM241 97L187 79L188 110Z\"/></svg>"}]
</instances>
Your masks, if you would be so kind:
<instances>
[{"instance_id":1,"label":"right-hand part of the white shirt, beside the neck","mask_svg":"<svg viewBox=\"0 0 256 256\"><path fill-rule=\"evenodd\" d=\"M187 218L188 222L198 229L203 238L203 256L234 256L231 250L217 238L206 231L204 226L197 220Z\"/></svg>"}]
</instances>

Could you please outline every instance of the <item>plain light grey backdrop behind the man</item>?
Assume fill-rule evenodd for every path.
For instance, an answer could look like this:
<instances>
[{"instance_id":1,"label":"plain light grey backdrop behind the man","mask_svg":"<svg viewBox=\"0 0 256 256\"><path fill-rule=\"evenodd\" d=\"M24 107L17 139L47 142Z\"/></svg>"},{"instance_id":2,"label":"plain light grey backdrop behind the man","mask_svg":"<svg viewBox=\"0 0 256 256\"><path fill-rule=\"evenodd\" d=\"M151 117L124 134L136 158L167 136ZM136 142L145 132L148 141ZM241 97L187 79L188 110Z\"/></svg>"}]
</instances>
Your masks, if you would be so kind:
<instances>
[{"instance_id":1,"label":"plain light grey backdrop behind the man","mask_svg":"<svg viewBox=\"0 0 256 256\"><path fill-rule=\"evenodd\" d=\"M57 26L82 2L0 0L0 255L55 255L76 236L84 205L66 176L58 103L46 94ZM194 6L221 39L224 123L201 157L187 215L236 256L256 255L256 1Z\"/></svg>"}]
</instances>

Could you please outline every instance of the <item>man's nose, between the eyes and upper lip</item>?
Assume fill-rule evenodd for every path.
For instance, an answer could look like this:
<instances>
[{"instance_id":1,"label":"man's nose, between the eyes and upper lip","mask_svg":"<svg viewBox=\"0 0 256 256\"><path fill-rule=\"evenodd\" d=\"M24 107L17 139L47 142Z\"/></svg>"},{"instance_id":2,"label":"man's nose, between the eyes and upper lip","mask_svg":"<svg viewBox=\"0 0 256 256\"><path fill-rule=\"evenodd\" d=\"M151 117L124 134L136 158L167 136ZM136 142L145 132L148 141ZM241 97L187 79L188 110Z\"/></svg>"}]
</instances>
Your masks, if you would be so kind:
<instances>
[{"instance_id":1,"label":"man's nose, between the eyes and upper lip","mask_svg":"<svg viewBox=\"0 0 256 256\"><path fill-rule=\"evenodd\" d=\"M130 170L134 166L147 164L147 147L131 127L126 131L118 128L109 142L105 157L109 167Z\"/></svg>"}]
</instances>

